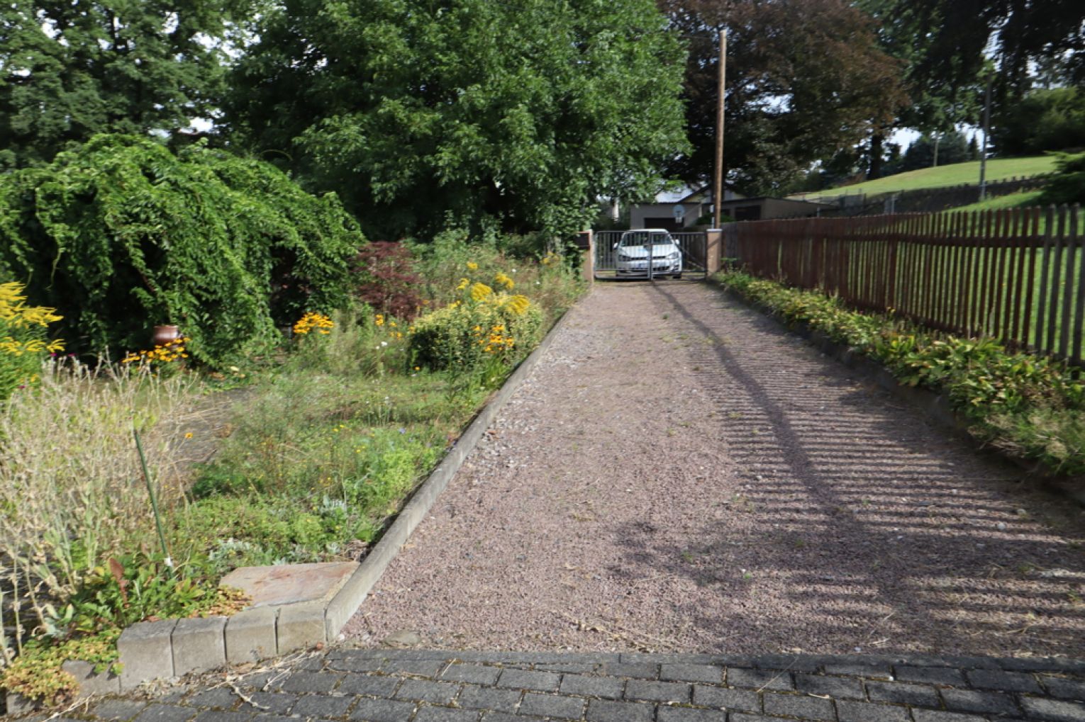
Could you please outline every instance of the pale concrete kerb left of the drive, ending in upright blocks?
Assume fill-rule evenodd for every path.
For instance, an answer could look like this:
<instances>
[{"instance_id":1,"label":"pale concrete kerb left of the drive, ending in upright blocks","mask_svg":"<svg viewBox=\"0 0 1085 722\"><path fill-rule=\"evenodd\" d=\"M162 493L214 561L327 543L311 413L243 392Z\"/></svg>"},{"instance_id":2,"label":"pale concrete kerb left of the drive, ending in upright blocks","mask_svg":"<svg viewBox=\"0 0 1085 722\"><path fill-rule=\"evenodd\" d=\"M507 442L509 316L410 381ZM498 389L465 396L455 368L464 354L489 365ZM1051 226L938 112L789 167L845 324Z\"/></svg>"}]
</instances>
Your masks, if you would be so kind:
<instances>
[{"instance_id":1,"label":"pale concrete kerb left of the drive, ending in upright blocks","mask_svg":"<svg viewBox=\"0 0 1085 722\"><path fill-rule=\"evenodd\" d=\"M336 640L340 630L358 610L411 532L429 514L498 412L538 364L564 326L570 311L554 323L538 347L489 398L437 468L419 486L388 530L329 602L261 607L228 618L168 619L133 624L117 641L124 667L119 679L105 674L99 680L82 667L73 668L73 671L79 672L76 676L80 682L88 682L86 686L80 685L79 696L132 689L154 679L205 672L225 663L256 661ZM18 695L8 695L8 712L28 711L31 707L27 702Z\"/></svg>"}]
</instances>

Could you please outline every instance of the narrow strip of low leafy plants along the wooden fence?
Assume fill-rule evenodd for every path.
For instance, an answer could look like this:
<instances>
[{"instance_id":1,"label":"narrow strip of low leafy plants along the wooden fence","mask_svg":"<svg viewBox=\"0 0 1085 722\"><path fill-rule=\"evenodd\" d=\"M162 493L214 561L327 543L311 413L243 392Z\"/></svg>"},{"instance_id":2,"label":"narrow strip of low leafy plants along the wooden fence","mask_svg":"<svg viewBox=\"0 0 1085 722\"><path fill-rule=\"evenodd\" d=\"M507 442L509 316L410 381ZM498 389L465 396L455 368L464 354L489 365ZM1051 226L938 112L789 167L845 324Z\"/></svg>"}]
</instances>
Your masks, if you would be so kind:
<instances>
[{"instance_id":1,"label":"narrow strip of low leafy plants along the wooden fence","mask_svg":"<svg viewBox=\"0 0 1085 722\"><path fill-rule=\"evenodd\" d=\"M837 345L842 358L861 358L904 388L931 391L934 396L923 405L940 421L1080 493L1076 477L1085 474L1082 370L1008 350L993 339L959 338L889 315L852 311L837 298L741 271L725 271L714 280Z\"/></svg>"}]
</instances>

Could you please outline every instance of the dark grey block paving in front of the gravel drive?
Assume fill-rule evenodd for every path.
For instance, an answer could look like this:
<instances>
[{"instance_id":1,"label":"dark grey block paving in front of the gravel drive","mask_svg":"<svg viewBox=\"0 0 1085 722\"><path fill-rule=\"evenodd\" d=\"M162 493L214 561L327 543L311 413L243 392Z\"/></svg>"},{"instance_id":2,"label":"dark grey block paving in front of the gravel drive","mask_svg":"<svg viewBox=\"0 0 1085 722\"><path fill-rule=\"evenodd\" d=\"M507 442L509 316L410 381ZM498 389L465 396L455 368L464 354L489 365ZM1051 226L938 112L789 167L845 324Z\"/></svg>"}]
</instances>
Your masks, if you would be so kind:
<instances>
[{"instance_id":1,"label":"dark grey block paving in front of the gravel drive","mask_svg":"<svg viewBox=\"0 0 1085 722\"><path fill-rule=\"evenodd\" d=\"M158 700L113 697L66 715L86 722L1085 722L1085 663L1058 658L337 648L231 679L232 686L207 675Z\"/></svg>"}]
</instances>

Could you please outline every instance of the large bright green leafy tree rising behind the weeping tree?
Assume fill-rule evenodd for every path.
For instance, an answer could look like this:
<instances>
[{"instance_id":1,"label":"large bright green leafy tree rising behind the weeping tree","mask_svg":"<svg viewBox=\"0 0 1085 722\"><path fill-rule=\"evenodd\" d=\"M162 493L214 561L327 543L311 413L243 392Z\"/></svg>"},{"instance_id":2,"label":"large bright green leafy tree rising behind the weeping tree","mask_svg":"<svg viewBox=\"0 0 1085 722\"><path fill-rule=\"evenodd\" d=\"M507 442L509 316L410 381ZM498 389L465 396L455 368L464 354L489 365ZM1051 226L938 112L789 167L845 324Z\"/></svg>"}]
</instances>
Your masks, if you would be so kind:
<instances>
[{"instance_id":1,"label":"large bright green leafy tree rising behind the weeping tree","mask_svg":"<svg viewBox=\"0 0 1085 722\"><path fill-rule=\"evenodd\" d=\"M685 147L651 0L278 0L254 30L229 124L371 237L578 230Z\"/></svg>"}]
</instances>

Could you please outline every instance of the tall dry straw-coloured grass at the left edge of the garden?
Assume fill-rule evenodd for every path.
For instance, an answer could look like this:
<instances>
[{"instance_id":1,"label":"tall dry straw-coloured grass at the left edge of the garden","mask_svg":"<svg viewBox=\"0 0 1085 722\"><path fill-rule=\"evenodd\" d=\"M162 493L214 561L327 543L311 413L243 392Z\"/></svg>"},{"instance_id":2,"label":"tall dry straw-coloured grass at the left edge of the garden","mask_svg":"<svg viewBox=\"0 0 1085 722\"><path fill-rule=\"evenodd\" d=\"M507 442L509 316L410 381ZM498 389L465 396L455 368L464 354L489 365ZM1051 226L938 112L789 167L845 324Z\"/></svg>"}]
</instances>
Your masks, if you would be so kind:
<instances>
[{"instance_id":1,"label":"tall dry straw-coloured grass at the left edge of the garden","mask_svg":"<svg viewBox=\"0 0 1085 722\"><path fill-rule=\"evenodd\" d=\"M196 384L50 361L40 387L0 407L0 629L16 630L0 640L9 660L91 570L123 551L156 549L132 429L159 503L176 504L183 489L173 460L197 413Z\"/></svg>"}]
</instances>

